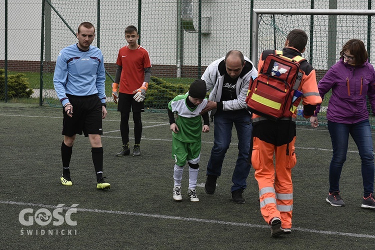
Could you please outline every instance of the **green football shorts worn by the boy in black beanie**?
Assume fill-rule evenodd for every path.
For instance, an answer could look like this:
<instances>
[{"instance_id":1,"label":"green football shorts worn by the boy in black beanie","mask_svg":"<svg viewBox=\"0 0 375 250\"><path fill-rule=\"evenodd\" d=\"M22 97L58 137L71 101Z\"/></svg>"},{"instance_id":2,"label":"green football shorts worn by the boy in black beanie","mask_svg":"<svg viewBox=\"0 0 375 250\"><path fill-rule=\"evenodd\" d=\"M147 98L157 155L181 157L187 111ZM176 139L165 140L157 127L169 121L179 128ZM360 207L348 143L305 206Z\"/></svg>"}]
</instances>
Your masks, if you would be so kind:
<instances>
[{"instance_id":1,"label":"green football shorts worn by the boy in black beanie","mask_svg":"<svg viewBox=\"0 0 375 250\"><path fill-rule=\"evenodd\" d=\"M183 142L172 137L172 158L177 166L184 166L186 160L194 160L193 164L197 164L200 158L201 141Z\"/></svg>"}]
</instances>

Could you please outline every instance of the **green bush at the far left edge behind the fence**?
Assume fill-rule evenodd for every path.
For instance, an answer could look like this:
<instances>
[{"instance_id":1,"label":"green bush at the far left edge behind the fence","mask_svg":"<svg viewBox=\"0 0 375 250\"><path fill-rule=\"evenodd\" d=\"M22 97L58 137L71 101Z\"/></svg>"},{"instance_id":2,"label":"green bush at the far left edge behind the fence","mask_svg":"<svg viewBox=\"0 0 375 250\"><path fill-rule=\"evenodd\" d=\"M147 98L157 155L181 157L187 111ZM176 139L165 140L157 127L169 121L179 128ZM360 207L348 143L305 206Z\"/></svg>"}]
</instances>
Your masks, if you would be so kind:
<instances>
[{"instance_id":1,"label":"green bush at the far left edge behind the fence","mask_svg":"<svg viewBox=\"0 0 375 250\"><path fill-rule=\"evenodd\" d=\"M29 98L34 92L22 73L8 74L7 98ZM5 69L0 68L0 100L5 99Z\"/></svg>"}]
</instances>

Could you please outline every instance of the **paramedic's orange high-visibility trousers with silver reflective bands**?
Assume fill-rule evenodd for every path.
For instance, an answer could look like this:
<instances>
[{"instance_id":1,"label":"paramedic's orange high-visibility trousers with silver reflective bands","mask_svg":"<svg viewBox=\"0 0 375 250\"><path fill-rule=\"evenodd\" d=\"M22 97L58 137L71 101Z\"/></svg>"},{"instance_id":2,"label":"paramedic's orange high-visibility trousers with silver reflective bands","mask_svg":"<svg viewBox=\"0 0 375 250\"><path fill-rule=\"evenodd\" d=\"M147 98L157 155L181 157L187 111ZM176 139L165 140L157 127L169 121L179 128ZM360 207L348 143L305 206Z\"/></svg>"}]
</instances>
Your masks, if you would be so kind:
<instances>
[{"instance_id":1,"label":"paramedic's orange high-visibility trousers with silver reflective bands","mask_svg":"<svg viewBox=\"0 0 375 250\"><path fill-rule=\"evenodd\" d=\"M282 228L291 228L293 210L291 168L296 163L294 142L295 137L288 144L275 146L257 137L253 138L251 163L259 186L260 212L268 224L273 217L279 217ZM287 155L287 146L289 155Z\"/></svg>"}]
</instances>

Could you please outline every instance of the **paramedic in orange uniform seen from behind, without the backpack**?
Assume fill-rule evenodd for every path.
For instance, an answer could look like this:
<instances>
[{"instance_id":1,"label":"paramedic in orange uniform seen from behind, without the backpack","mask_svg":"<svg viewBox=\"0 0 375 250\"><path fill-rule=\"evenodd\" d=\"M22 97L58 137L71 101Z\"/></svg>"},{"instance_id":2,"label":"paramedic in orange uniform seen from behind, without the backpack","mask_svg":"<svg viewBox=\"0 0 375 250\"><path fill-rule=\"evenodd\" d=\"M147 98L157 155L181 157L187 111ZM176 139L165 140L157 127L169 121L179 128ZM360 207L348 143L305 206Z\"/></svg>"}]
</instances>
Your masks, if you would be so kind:
<instances>
[{"instance_id":1,"label":"paramedic in orange uniform seen from behind, without the backpack","mask_svg":"<svg viewBox=\"0 0 375 250\"><path fill-rule=\"evenodd\" d=\"M286 36L282 54L293 58L305 50L307 35L303 30L293 29ZM275 50L264 50L259 58L258 72L265 57L275 53ZM306 61L300 61L303 76L298 90L303 93L303 117L314 114L321 97L317 89L315 70ZM297 105L298 103L293 103ZM285 117L273 121L252 114L253 149L251 163L255 169L255 179L259 186L260 212L264 220L271 226L271 236L290 233L291 213L293 210L293 184L291 182L291 168L296 163L295 157L295 118ZM275 164L273 164L275 155Z\"/></svg>"}]
</instances>

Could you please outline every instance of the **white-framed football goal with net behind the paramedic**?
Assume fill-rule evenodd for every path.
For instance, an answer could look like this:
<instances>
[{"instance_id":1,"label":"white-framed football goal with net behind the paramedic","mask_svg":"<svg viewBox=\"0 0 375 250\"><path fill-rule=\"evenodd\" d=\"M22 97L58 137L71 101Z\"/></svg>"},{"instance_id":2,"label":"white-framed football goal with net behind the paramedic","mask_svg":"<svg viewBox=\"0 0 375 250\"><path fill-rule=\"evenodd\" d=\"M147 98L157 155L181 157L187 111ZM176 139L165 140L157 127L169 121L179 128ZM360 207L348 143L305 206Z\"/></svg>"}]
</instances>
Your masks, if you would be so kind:
<instances>
[{"instance_id":1,"label":"white-framed football goal with net behind the paramedic","mask_svg":"<svg viewBox=\"0 0 375 250\"><path fill-rule=\"evenodd\" d=\"M316 71L317 82L325 72L340 57L342 45L356 38L364 42L368 51L369 61L373 58L371 48L375 39L374 27L375 10L363 9L254 9L252 18L252 60L257 61L264 49L281 49L284 47L287 33L299 28L304 30L308 37L306 50L302 54ZM326 120L330 92L323 99L319 118ZM298 107L302 109L302 106ZM370 112L371 106L367 102ZM371 124L374 125L370 115ZM301 115L298 121L308 122Z\"/></svg>"}]
</instances>

